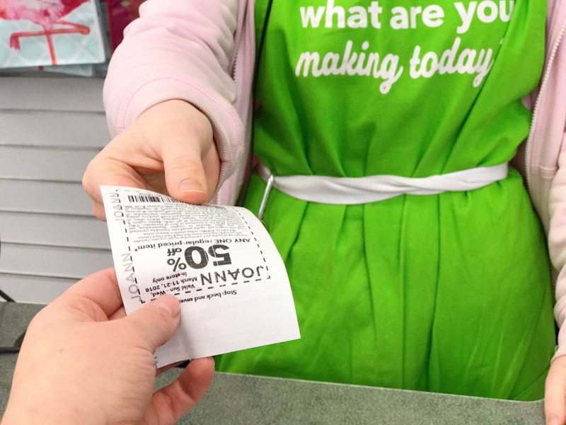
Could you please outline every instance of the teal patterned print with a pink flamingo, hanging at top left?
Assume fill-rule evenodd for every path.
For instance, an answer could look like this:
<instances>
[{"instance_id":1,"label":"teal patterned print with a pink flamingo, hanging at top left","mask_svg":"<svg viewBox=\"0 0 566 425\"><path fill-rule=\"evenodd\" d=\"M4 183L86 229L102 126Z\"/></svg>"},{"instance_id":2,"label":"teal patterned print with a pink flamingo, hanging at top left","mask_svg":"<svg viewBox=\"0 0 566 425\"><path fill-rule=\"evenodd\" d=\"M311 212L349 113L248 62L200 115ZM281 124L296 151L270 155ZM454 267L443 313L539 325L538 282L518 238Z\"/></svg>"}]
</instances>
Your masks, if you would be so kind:
<instances>
[{"instance_id":1,"label":"teal patterned print with a pink flamingo, hanging at top left","mask_svg":"<svg viewBox=\"0 0 566 425\"><path fill-rule=\"evenodd\" d=\"M105 62L99 6L98 0L0 0L0 68Z\"/></svg>"}]
</instances>

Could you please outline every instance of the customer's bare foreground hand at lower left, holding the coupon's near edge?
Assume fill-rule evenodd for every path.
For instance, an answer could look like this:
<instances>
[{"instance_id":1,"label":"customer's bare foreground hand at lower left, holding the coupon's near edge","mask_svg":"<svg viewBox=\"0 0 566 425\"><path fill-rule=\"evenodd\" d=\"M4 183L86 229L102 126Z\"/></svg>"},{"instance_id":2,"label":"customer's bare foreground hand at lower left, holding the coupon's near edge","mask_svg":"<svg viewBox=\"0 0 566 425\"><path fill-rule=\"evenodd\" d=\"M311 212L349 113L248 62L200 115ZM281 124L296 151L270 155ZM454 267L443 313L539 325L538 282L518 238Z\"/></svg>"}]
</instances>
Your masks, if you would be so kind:
<instances>
[{"instance_id":1,"label":"customer's bare foreground hand at lower left, holding the coupon's near edge","mask_svg":"<svg viewBox=\"0 0 566 425\"><path fill-rule=\"evenodd\" d=\"M126 316L112 268L81 280L31 321L2 425L174 424L214 375L200 358L154 392L154 350L179 321L172 295Z\"/></svg>"}]
</instances>

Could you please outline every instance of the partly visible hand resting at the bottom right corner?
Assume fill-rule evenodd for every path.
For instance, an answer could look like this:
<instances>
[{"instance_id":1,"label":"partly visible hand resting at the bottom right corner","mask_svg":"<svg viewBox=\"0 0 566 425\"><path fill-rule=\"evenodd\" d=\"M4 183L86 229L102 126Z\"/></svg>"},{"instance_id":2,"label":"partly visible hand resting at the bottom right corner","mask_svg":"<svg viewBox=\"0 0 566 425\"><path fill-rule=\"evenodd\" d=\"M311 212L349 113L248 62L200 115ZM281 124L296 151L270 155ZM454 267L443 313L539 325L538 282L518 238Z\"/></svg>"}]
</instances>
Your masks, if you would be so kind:
<instances>
[{"instance_id":1,"label":"partly visible hand resting at the bottom right corner","mask_svg":"<svg viewBox=\"0 0 566 425\"><path fill-rule=\"evenodd\" d=\"M546 425L566 425L566 356L555 358L546 377Z\"/></svg>"}]
</instances>

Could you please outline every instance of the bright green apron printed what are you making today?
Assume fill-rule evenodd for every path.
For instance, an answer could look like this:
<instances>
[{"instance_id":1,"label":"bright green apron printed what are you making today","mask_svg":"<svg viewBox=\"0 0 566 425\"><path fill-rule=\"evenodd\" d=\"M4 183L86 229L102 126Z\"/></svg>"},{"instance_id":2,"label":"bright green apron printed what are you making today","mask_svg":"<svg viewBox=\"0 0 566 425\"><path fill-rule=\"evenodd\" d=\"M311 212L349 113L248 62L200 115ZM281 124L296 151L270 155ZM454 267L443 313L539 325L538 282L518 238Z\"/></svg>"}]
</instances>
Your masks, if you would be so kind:
<instances>
[{"instance_id":1,"label":"bright green apron printed what are you making today","mask_svg":"<svg viewBox=\"0 0 566 425\"><path fill-rule=\"evenodd\" d=\"M266 0L256 5L262 28ZM512 3L512 2L511 2ZM528 135L545 1L274 1L255 153L275 174L426 177L508 162ZM265 183L254 175L246 206ZM364 205L277 190L263 216L301 339L218 370L540 399L555 346L548 254L518 172Z\"/></svg>"}]
</instances>

